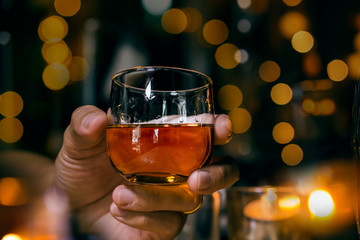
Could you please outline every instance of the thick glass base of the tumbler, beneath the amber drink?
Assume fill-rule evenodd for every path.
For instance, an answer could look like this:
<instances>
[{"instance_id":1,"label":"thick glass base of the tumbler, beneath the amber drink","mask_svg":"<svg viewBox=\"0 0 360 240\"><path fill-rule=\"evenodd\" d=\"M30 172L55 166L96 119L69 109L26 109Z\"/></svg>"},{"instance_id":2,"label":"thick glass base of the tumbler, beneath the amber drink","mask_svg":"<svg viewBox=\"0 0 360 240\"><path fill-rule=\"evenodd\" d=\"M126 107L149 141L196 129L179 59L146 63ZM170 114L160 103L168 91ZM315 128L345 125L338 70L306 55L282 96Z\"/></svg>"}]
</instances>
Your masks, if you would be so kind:
<instances>
[{"instance_id":1,"label":"thick glass base of the tumbler, beneath the amber drink","mask_svg":"<svg viewBox=\"0 0 360 240\"><path fill-rule=\"evenodd\" d=\"M187 182L188 177L169 173L136 173L124 177L132 183L151 185L179 185Z\"/></svg>"}]
</instances>

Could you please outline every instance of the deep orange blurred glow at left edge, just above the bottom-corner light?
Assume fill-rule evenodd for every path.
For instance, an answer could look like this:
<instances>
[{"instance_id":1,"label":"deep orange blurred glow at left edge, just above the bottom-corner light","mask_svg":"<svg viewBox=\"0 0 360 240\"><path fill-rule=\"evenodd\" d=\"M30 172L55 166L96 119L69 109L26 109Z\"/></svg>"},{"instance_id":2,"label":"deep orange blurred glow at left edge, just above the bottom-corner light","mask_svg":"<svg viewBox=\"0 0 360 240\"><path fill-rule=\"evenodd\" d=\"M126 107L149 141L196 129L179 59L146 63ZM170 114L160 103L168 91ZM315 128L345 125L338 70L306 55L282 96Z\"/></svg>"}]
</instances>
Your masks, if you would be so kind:
<instances>
[{"instance_id":1,"label":"deep orange blurred glow at left edge, just above the bottom-corner light","mask_svg":"<svg viewBox=\"0 0 360 240\"><path fill-rule=\"evenodd\" d=\"M20 206L28 202L25 181L19 178L0 178L0 205Z\"/></svg>"}]
</instances>

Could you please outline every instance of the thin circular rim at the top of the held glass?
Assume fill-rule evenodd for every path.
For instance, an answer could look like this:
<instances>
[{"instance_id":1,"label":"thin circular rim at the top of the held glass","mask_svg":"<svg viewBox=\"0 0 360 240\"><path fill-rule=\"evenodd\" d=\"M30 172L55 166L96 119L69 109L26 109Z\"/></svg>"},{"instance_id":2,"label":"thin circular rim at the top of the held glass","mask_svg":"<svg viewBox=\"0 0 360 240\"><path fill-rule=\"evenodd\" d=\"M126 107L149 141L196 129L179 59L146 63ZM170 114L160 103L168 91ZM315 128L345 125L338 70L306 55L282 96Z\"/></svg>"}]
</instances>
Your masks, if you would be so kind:
<instances>
[{"instance_id":1,"label":"thin circular rim at the top of the held glass","mask_svg":"<svg viewBox=\"0 0 360 240\"><path fill-rule=\"evenodd\" d=\"M204 73L195 71L195 70L191 70L191 69L186 69L186 68L179 68L179 67L168 67L168 66L138 66L138 67L132 67L132 68L125 68L123 70L120 70L119 72L115 73L113 75L113 77L111 78L113 80L113 82L115 82L116 84L126 87L126 88L130 88L133 90L138 90L138 91L145 91L145 88L139 88L139 87L134 87L128 84L125 84L123 82L118 81L116 78L121 76L121 75L125 75L127 73L132 73L132 72L149 72L149 71L156 71L156 70L175 70L177 72L181 72L181 73L188 73L188 74L194 74L204 80L206 80L206 84L204 84L203 86L197 87L197 88L191 88L191 89L179 89L179 90L152 90L152 92L159 92L159 93L168 93L168 92L194 92L194 91L199 91L199 90L203 90L203 89L207 89L210 88L213 84L211 78L207 75L205 75Z\"/></svg>"}]
</instances>

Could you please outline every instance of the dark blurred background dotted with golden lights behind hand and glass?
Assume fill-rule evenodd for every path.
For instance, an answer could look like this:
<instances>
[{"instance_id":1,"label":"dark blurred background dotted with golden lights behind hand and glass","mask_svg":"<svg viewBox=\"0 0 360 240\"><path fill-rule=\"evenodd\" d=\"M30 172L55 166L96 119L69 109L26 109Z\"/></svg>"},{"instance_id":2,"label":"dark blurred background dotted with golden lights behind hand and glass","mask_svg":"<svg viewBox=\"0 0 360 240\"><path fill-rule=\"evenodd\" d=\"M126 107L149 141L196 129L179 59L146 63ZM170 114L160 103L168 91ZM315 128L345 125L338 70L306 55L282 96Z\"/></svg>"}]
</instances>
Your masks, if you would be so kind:
<instances>
[{"instance_id":1,"label":"dark blurred background dotted with golden lights behind hand and glass","mask_svg":"<svg viewBox=\"0 0 360 240\"><path fill-rule=\"evenodd\" d=\"M214 154L239 185L351 161L357 0L0 0L0 56L0 151L54 159L77 107L107 109L113 74L165 65L213 79L234 125Z\"/></svg>"}]
</instances>

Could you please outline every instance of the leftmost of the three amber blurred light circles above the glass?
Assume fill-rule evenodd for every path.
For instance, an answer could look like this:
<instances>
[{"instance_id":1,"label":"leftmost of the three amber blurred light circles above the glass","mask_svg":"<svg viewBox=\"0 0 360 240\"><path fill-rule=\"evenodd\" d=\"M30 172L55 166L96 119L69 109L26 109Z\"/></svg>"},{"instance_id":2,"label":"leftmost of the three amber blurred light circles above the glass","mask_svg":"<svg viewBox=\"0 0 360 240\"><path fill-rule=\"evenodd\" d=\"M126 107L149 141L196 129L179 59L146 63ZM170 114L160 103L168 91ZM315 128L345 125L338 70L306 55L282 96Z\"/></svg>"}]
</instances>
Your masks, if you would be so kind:
<instances>
[{"instance_id":1,"label":"leftmost of the three amber blurred light circles above the glass","mask_svg":"<svg viewBox=\"0 0 360 240\"><path fill-rule=\"evenodd\" d=\"M163 14L161 18L161 25L166 32L179 34L186 29L187 17L182 10L171 8Z\"/></svg>"}]
</instances>

